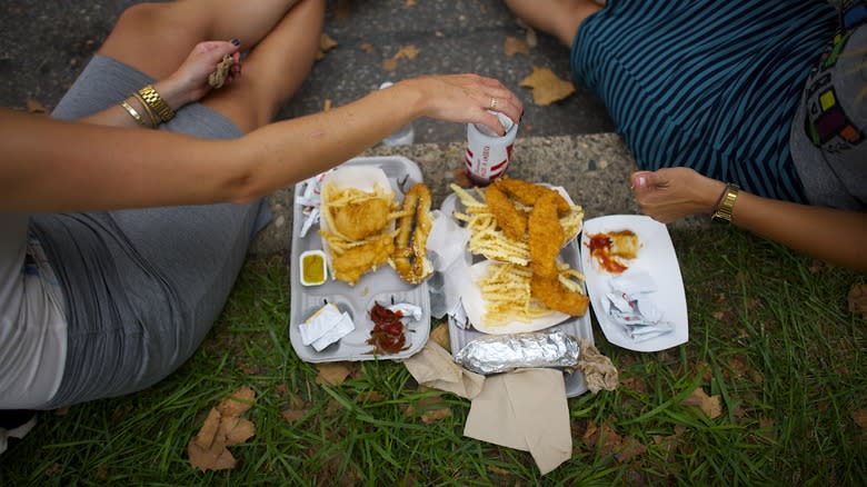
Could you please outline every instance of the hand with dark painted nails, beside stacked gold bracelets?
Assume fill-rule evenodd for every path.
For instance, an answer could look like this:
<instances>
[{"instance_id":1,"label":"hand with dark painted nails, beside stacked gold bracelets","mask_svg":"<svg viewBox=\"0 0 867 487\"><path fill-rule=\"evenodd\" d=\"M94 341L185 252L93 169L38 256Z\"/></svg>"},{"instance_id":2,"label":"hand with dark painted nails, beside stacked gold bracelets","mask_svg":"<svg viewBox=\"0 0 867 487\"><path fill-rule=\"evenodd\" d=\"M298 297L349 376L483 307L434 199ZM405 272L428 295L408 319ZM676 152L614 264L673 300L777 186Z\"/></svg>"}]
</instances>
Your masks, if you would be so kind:
<instances>
[{"instance_id":1,"label":"hand with dark painted nails, beside stacked gold bracelets","mask_svg":"<svg viewBox=\"0 0 867 487\"><path fill-rule=\"evenodd\" d=\"M208 77L217 69L217 63L222 61L223 56L231 54L235 59L227 82L230 83L241 76L239 46L237 39L199 42L169 78L153 87L175 110L198 101L211 90Z\"/></svg>"}]
</instances>

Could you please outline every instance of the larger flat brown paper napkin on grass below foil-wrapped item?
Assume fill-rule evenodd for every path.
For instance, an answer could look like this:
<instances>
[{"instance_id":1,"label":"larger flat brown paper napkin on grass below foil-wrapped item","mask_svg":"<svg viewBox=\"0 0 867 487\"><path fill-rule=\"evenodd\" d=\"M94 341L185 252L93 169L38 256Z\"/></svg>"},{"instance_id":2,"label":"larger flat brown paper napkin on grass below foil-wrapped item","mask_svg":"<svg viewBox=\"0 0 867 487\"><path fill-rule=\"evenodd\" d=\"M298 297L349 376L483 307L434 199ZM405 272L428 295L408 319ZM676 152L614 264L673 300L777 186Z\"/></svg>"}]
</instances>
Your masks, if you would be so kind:
<instances>
[{"instance_id":1,"label":"larger flat brown paper napkin on grass below foil-wrapped item","mask_svg":"<svg viewBox=\"0 0 867 487\"><path fill-rule=\"evenodd\" d=\"M562 372L519 369L487 377L464 436L529 451L542 475L554 470L572 455Z\"/></svg>"}]
</instances>

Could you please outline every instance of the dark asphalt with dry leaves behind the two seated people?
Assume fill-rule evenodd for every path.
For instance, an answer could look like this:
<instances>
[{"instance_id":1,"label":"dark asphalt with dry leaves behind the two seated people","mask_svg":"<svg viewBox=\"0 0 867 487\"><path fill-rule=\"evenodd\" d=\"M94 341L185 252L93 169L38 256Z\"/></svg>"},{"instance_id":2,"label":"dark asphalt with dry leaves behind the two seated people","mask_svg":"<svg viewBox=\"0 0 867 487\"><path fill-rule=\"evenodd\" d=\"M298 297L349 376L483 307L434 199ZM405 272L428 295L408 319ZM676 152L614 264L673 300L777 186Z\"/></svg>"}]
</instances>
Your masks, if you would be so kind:
<instances>
[{"instance_id":1,"label":"dark asphalt with dry leaves behind the two seated people","mask_svg":"<svg viewBox=\"0 0 867 487\"><path fill-rule=\"evenodd\" d=\"M96 52L130 0L0 0L0 105L51 110ZM319 111L327 100L339 106L377 89L386 80L429 73L476 72L501 80L525 103L519 137L612 131L595 96L576 92L547 107L532 103L518 86L534 67L571 79L568 49L537 33L529 54L507 56L507 37L527 38L500 0L328 0L325 32L338 46L316 63L296 97L278 118ZM383 61L403 46L415 59ZM28 102L29 101L29 102ZM466 140L456 123L419 120L416 142Z\"/></svg>"}]
</instances>

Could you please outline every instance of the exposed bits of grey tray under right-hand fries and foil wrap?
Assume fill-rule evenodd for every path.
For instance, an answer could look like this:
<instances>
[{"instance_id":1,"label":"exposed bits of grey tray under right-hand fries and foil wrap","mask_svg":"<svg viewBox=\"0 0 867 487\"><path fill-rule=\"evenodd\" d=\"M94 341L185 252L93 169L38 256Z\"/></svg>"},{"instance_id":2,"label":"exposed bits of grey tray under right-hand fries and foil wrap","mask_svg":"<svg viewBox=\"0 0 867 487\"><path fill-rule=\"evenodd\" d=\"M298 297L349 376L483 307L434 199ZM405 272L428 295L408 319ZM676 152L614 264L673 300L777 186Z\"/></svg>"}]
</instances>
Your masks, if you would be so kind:
<instances>
[{"instance_id":1,"label":"exposed bits of grey tray under right-hand fries and foil wrap","mask_svg":"<svg viewBox=\"0 0 867 487\"><path fill-rule=\"evenodd\" d=\"M460 200L458 199L457 195L451 193L445 199L440 209L445 215L452 215L456 207L460 207ZM474 262L485 260L485 258L481 256L472 256L472 259ZM581 251L578 239L574 239L566 247L564 247L564 249L560 251L560 259L562 259L565 262L568 262L574 269L582 271ZM467 279L469 279L469 276ZM585 287L585 294L586 292L587 289ZM469 328L465 328L465 324L469 324ZM590 344L594 344L594 332L590 325L589 308L584 316L569 317L566 320L546 329L560 329L578 340L586 338L590 341ZM472 326L472 324L467 318L467 314L462 307L456 312L449 314L449 339L451 341L452 356L456 356L458 351L464 348L464 346L484 335L484 332L477 330ZM564 374L564 379L566 380L566 397L580 396L587 391L587 384L584 380L584 374L580 371L576 370L571 374Z\"/></svg>"}]
</instances>

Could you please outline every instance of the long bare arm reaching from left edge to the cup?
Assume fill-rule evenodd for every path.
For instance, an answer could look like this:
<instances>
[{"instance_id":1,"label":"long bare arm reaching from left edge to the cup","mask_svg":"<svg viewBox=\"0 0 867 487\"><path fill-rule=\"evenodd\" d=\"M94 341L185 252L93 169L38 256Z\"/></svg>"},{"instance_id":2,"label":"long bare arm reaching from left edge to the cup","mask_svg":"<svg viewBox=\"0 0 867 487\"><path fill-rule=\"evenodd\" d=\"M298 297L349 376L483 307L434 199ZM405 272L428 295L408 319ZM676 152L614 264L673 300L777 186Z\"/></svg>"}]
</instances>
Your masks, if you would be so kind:
<instances>
[{"instance_id":1,"label":"long bare arm reaching from left edge to the cup","mask_svg":"<svg viewBox=\"0 0 867 487\"><path fill-rule=\"evenodd\" d=\"M331 168L428 116L502 128L520 101L475 74L416 78L352 103L229 141L129 130L0 110L0 211L82 211L249 201Z\"/></svg>"}]
</instances>

